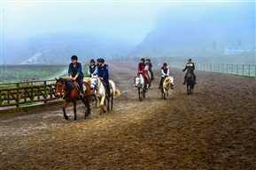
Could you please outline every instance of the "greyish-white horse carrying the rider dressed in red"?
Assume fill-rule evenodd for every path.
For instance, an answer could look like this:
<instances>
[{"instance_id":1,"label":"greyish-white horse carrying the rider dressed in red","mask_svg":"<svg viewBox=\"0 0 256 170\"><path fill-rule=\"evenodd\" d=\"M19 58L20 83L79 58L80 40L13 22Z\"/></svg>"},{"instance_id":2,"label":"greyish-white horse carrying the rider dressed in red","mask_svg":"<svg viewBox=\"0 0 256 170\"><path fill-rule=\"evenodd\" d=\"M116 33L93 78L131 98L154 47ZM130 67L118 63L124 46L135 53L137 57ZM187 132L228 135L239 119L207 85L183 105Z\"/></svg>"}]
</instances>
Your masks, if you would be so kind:
<instances>
[{"instance_id":1,"label":"greyish-white horse carrying the rider dressed in red","mask_svg":"<svg viewBox=\"0 0 256 170\"><path fill-rule=\"evenodd\" d=\"M135 78L135 86L138 89L139 100L142 101L143 98L146 97L147 86L144 80L144 75L142 73L138 73Z\"/></svg>"}]
</instances>

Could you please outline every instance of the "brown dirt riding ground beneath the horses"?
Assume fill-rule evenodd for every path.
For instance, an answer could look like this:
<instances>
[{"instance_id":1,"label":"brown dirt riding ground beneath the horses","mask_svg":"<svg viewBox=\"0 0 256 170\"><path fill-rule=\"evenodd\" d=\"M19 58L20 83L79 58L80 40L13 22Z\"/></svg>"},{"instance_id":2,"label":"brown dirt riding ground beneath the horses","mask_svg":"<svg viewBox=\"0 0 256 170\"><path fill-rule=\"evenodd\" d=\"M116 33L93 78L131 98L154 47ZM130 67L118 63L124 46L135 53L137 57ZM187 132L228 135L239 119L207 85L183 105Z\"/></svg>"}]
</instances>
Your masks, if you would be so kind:
<instances>
[{"instance_id":1,"label":"brown dirt riding ground beneath the horses","mask_svg":"<svg viewBox=\"0 0 256 170\"><path fill-rule=\"evenodd\" d=\"M109 63L120 89L112 112L83 118L73 105L1 115L1 169L256 169L256 80L196 70L188 96L182 70L162 100L155 80L138 100L137 63ZM125 68L123 68L125 67Z\"/></svg>"}]
</instances>

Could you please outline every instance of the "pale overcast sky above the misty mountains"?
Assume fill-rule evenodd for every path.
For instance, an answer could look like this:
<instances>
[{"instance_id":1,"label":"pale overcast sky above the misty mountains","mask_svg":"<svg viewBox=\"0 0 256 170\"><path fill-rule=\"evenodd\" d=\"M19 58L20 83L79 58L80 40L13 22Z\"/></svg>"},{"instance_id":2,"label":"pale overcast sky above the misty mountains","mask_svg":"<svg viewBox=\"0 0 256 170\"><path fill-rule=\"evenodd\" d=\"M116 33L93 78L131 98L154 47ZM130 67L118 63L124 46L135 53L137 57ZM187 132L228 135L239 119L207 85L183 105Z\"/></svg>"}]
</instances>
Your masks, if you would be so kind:
<instances>
[{"instance_id":1,"label":"pale overcast sky above the misty mountains","mask_svg":"<svg viewBox=\"0 0 256 170\"><path fill-rule=\"evenodd\" d=\"M3 38L43 33L103 33L142 41L157 13L171 3L114 1L2 1Z\"/></svg>"}]
</instances>

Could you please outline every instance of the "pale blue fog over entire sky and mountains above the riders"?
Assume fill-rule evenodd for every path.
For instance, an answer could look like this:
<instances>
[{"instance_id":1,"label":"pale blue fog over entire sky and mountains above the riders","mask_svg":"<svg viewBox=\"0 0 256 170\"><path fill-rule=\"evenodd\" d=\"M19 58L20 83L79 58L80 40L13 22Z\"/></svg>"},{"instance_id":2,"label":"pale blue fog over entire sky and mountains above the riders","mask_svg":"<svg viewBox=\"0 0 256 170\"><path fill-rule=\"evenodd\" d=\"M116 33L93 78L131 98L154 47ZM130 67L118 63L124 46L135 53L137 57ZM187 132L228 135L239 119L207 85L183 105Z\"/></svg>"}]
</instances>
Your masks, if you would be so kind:
<instances>
[{"instance_id":1,"label":"pale blue fog over entire sky and mountains above the riders","mask_svg":"<svg viewBox=\"0 0 256 170\"><path fill-rule=\"evenodd\" d=\"M212 57L237 44L255 57L255 1L1 1L1 64L33 55L38 63L73 54Z\"/></svg>"}]
</instances>

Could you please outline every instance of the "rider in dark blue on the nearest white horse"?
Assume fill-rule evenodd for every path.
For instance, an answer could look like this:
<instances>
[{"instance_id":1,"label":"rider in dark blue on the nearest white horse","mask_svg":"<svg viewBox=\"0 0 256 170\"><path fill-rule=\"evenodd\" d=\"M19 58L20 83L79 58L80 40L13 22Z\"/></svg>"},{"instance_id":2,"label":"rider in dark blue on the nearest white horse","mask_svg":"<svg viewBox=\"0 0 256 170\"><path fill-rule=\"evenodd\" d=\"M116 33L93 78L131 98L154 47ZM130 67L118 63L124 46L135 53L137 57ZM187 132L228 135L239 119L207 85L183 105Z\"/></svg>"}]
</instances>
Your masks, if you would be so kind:
<instances>
[{"instance_id":1,"label":"rider in dark blue on the nearest white horse","mask_svg":"<svg viewBox=\"0 0 256 170\"><path fill-rule=\"evenodd\" d=\"M103 58L98 58L97 59L97 77L100 80L105 81L106 92L107 92L108 96L111 96L110 86L109 86L108 65L105 64L105 60Z\"/></svg>"}]
</instances>

